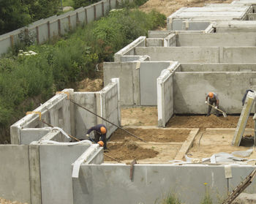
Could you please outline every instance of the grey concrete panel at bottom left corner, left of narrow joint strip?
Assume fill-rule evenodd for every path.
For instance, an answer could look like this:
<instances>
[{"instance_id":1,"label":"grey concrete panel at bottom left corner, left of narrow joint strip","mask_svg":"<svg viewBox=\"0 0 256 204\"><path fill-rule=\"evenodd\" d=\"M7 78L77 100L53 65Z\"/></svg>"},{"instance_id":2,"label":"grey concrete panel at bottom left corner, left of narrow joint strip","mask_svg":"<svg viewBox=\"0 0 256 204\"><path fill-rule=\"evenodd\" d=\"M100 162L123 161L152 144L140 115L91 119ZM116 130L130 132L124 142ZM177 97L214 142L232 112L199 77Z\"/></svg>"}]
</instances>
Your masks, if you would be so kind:
<instances>
[{"instance_id":1,"label":"grey concrete panel at bottom left corner, left of narrow joint strip","mask_svg":"<svg viewBox=\"0 0 256 204\"><path fill-rule=\"evenodd\" d=\"M28 146L0 146L0 197L31 203Z\"/></svg>"}]
</instances>

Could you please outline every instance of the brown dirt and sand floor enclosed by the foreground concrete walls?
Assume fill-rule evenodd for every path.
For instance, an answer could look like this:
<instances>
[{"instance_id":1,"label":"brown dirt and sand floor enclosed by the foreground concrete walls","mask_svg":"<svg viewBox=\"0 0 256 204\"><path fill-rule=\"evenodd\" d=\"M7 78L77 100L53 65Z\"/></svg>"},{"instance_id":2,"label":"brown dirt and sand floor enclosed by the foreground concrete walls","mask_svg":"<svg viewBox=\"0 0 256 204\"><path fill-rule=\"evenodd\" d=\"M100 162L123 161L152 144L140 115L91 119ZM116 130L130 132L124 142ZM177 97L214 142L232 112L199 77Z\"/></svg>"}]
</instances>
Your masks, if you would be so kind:
<instances>
[{"instance_id":1,"label":"brown dirt and sand floor enclosed by the foreground concrete walls","mask_svg":"<svg viewBox=\"0 0 256 204\"><path fill-rule=\"evenodd\" d=\"M197 159L213 154L244 151L252 147L232 146L239 116L173 116L165 128L157 127L157 107L121 108L121 126L145 142L129 135L122 129L116 130L108 142L108 155L129 163L169 163L187 156ZM252 116L246 124L244 137L254 135ZM191 143L191 144L190 144ZM241 157L241 156L240 156ZM255 150L246 159L256 159ZM184 157L183 157L183 160ZM105 162L113 162L105 156Z\"/></svg>"}]
</instances>

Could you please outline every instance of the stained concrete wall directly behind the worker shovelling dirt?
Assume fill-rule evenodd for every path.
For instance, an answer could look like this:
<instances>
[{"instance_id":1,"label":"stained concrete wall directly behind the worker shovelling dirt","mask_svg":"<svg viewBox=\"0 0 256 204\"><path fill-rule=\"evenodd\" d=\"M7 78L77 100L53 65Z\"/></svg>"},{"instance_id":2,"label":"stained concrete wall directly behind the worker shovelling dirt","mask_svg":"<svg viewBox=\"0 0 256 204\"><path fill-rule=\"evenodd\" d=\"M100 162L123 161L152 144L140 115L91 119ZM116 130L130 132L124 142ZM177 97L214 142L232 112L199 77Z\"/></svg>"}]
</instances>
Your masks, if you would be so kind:
<instances>
[{"instance_id":1,"label":"stained concrete wall directly behind the worker shovelling dirt","mask_svg":"<svg viewBox=\"0 0 256 204\"><path fill-rule=\"evenodd\" d=\"M175 113L206 114L204 101L209 91L218 94L219 105L227 113L241 113L241 99L255 78L256 72L176 72Z\"/></svg>"}]
</instances>

